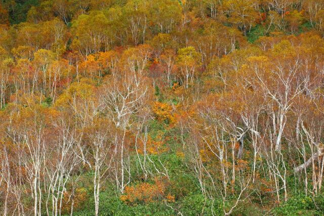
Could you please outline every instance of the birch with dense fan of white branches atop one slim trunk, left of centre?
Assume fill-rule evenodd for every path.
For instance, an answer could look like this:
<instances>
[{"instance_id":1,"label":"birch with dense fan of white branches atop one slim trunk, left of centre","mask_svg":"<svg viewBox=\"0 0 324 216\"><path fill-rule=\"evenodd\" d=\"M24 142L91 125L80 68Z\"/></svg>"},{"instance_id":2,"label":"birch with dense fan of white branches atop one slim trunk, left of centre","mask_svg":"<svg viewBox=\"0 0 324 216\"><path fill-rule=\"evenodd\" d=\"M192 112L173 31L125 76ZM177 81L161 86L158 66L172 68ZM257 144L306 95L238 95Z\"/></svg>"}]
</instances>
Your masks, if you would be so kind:
<instances>
[{"instance_id":1,"label":"birch with dense fan of white branches atop one slim trunk, left of centre","mask_svg":"<svg viewBox=\"0 0 324 216\"><path fill-rule=\"evenodd\" d=\"M145 46L125 51L121 57L118 73L107 77L100 97L104 112L116 128L113 142L119 159L115 159L113 162L116 167L117 189L121 193L130 182L130 172L127 167L127 163L129 163L128 149L126 148L127 134L133 116L140 112L149 97L144 77L148 53ZM129 175L128 182L125 180L126 171Z\"/></svg>"}]
</instances>

